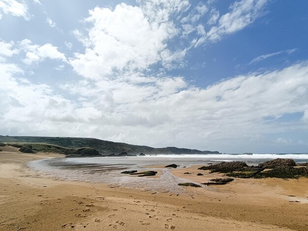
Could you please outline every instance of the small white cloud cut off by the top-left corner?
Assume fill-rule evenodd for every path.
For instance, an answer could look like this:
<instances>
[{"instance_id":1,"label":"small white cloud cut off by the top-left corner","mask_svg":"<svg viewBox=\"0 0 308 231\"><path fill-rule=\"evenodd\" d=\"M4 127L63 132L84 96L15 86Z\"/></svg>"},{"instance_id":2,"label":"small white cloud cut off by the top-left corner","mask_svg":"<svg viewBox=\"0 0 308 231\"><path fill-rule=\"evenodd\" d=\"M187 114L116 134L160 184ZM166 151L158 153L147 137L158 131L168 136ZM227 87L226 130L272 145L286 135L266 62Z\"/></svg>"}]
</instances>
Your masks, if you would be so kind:
<instances>
[{"instance_id":1,"label":"small white cloud cut off by the top-left corner","mask_svg":"<svg viewBox=\"0 0 308 231\"><path fill-rule=\"evenodd\" d=\"M0 0L0 8L5 14L23 17L27 21L30 20L28 5L25 2L18 2L16 0Z\"/></svg>"}]
</instances>

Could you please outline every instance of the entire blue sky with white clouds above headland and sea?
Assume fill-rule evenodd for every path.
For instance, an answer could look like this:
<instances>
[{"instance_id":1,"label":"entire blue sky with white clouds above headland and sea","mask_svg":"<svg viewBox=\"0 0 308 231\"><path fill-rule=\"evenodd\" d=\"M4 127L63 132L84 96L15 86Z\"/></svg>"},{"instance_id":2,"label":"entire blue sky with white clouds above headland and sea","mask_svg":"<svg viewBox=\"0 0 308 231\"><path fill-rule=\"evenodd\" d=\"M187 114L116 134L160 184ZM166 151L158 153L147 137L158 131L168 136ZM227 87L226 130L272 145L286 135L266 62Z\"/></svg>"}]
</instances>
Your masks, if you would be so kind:
<instances>
[{"instance_id":1,"label":"entire blue sky with white clouds above headland and sea","mask_svg":"<svg viewBox=\"0 0 308 231\"><path fill-rule=\"evenodd\" d=\"M0 0L0 135L308 152L306 0Z\"/></svg>"}]
</instances>

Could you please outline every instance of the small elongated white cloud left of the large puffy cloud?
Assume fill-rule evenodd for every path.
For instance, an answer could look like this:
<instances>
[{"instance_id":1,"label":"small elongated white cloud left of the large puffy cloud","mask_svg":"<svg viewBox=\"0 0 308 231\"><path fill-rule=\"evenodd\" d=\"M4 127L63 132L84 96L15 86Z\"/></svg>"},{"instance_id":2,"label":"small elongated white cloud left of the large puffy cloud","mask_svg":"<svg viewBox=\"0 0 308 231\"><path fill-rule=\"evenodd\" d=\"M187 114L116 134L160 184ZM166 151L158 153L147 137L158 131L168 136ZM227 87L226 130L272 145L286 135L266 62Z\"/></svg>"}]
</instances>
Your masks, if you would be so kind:
<instances>
[{"instance_id":1,"label":"small elongated white cloud left of the large puffy cloud","mask_svg":"<svg viewBox=\"0 0 308 231\"><path fill-rule=\"evenodd\" d=\"M50 43L39 46L32 44L29 39L24 39L20 42L20 47L26 52L26 58L23 59L23 62L27 65L43 61L46 58L58 59L66 62L64 54L59 52L58 48Z\"/></svg>"}]
</instances>

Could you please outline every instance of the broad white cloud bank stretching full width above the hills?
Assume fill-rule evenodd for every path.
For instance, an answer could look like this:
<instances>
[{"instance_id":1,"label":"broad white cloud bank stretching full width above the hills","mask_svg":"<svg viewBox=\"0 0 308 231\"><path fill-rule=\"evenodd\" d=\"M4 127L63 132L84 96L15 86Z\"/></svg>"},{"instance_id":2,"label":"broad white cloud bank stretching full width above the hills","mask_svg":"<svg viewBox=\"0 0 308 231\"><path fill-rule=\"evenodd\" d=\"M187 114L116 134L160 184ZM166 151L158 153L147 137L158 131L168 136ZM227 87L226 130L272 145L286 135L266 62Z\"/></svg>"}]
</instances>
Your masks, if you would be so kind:
<instances>
[{"instance_id":1,"label":"broad white cloud bank stretching full width above the hills","mask_svg":"<svg viewBox=\"0 0 308 231\"><path fill-rule=\"evenodd\" d=\"M62 86L76 95L74 101L47 85L13 77L17 74L22 74L18 66L0 64L1 133L12 129L20 135L114 137L132 144L222 150L234 142L248 145L252 137L304 129L301 121L279 124L264 118L308 111L308 62L207 88L189 86L182 77L141 73L85 79Z\"/></svg>"}]
</instances>

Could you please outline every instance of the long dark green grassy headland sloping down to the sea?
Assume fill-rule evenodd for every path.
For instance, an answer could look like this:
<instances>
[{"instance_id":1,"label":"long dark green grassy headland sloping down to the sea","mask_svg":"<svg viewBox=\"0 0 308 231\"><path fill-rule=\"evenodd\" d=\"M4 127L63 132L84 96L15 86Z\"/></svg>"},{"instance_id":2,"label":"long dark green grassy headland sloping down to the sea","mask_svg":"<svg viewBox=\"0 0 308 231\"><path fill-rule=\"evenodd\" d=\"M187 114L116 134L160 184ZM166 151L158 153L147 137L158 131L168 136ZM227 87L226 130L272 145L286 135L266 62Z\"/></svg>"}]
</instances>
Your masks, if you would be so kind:
<instances>
[{"instance_id":1,"label":"long dark green grassy headland sloping down to the sea","mask_svg":"<svg viewBox=\"0 0 308 231\"><path fill-rule=\"evenodd\" d=\"M44 144L41 146L43 149L48 144L56 147L48 147L60 149L62 148L82 148L91 147L98 150L102 155L108 155L111 153L127 152L128 154L210 154L219 153L218 151L200 151L196 149L177 148L177 147L163 147L154 148L149 146L140 146L125 143L116 143L111 141L103 141L94 138L73 138L73 137L32 137L32 136L0 136L0 143L28 143Z\"/></svg>"}]
</instances>

